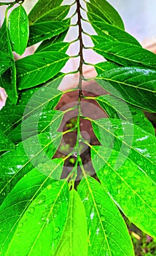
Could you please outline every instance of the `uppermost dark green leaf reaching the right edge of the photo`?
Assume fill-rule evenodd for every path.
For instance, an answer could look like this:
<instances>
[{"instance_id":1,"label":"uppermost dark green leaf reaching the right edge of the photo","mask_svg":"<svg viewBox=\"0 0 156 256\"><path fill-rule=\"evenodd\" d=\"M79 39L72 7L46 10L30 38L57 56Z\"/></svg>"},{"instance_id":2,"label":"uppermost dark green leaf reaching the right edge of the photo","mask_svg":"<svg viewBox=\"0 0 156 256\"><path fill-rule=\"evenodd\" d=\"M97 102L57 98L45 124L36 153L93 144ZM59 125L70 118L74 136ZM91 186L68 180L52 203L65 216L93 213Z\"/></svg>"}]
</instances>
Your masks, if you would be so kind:
<instances>
[{"instance_id":1,"label":"uppermost dark green leaf reaching the right edge of the photo","mask_svg":"<svg viewBox=\"0 0 156 256\"><path fill-rule=\"evenodd\" d=\"M122 66L156 68L155 53L128 42L104 40L93 47L95 52L105 59L117 62Z\"/></svg>"}]
</instances>

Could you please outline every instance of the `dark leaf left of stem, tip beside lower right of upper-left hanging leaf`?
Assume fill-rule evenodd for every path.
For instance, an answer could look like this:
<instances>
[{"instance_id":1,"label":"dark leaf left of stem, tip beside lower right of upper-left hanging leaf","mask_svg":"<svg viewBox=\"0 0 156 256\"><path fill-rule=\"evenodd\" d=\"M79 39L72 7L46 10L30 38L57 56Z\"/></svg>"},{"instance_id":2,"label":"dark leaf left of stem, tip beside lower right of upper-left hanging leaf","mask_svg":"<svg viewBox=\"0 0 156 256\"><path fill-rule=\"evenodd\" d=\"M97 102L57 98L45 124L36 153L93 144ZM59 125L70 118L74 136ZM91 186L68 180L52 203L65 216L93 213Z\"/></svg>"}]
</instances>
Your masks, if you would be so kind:
<instances>
[{"instance_id":1,"label":"dark leaf left of stem, tip beside lower right of upper-left hanging leaf","mask_svg":"<svg viewBox=\"0 0 156 256\"><path fill-rule=\"evenodd\" d=\"M35 45L37 42L50 39L69 28L69 23L65 21L46 21L35 23L30 26L28 46Z\"/></svg>"}]
</instances>

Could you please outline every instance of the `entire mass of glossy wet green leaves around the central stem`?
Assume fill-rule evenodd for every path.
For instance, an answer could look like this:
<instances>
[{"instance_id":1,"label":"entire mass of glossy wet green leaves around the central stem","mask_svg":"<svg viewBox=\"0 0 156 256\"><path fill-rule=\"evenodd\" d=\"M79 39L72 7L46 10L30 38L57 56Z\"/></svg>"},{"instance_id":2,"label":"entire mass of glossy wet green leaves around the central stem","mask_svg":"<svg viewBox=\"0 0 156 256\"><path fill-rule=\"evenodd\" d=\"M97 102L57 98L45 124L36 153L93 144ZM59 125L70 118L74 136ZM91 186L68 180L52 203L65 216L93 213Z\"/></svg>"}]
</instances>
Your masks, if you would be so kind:
<instances>
[{"instance_id":1,"label":"entire mass of glossy wet green leaves around the central stem","mask_svg":"<svg viewBox=\"0 0 156 256\"><path fill-rule=\"evenodd\" d=\"M155 130L143 113L156 110L156 56L125 32L120 15L105 0L61 3L39 0L29 15L23 1L7 3L0 30L0 80L8 94L0 112L0 255L133 256L120 211L156 237ZM74 13L66 18L70 8ZM74 15L77 23L71 25ZM96 35L87 33L88 24ZM79 35L64 42L71 26ZM106 61L85 62L84 35ZM69 75L61 69L77 58L66 50L76 41L79 83L76 89L59 91ZM36 42L34 54L15 61L14 51L22 55ZM92 80L110 94L84 94L84 64L95 67ZM78 92L77 102L57 110L69 91ZM108 118L84 116L81 103L88 99ZM77 118L61 129L73 110ZM85 120L92 124L97 145L82 134ZM63 136L72 132L77 134L74 147L57 157ZM90 148L94 173L83 162L84 147Z\"/></svg>"}]
</instances>

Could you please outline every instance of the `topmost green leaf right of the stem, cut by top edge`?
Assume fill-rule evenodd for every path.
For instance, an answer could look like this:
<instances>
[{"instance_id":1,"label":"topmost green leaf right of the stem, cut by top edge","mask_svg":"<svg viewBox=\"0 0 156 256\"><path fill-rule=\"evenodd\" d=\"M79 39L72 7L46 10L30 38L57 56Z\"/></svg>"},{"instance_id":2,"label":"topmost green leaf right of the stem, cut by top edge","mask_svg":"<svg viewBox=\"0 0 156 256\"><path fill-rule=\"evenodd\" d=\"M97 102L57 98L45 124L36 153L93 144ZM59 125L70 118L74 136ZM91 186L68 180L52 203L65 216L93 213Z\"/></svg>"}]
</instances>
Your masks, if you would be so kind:
<instances>
[{"instance_id":1,"label":"topmost green leaf right of the stem, cut by top edge","mask_svg":"<svg viewBox=\"0 0 156 256\"><path fill-rule=\"evenodd\" d=\"M105 0L91 0L87 3L87 15L91 23L102 20L124 30L119 13Z\"/></svg>"}]
</instances>

